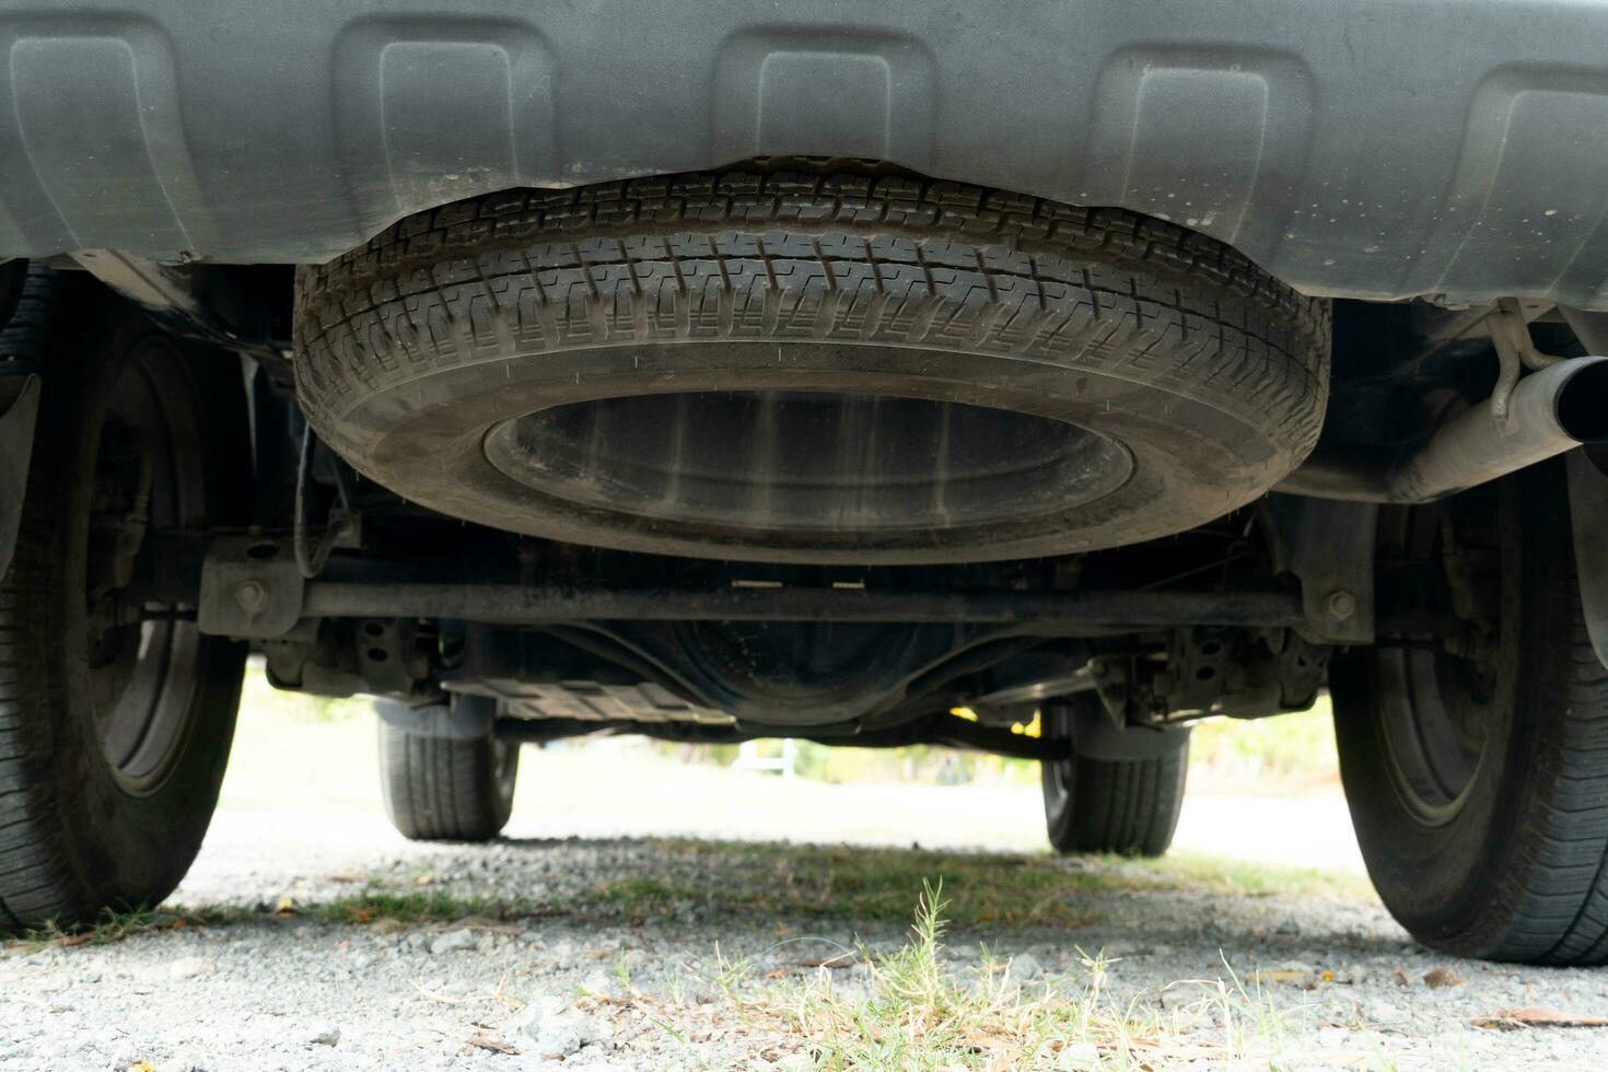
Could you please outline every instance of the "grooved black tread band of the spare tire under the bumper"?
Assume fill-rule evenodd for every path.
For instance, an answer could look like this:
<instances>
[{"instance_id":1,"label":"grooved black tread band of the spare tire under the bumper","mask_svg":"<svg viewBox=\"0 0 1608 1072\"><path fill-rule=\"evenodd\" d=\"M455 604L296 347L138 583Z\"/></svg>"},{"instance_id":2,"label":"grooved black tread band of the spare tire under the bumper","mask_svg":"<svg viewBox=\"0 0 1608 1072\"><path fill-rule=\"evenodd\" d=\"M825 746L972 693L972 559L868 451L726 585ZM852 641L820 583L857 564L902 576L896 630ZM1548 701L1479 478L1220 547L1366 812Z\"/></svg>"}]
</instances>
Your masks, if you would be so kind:
<instances>
[{"instance_id":1,"label":"grooved black tread band of the spare tire under the bumper","mask_svg":"<svg viewBox=\"0 0 1608 1072\"><path fill-rule=\"evenodd\" d=\"M817 339L1068 357L1188 394L1306 456L1330 304L1119 209L905 177L717 172L515 190L297 270L297 389L343 418L444 366L640 341Z\"/></svg>"}]
</instances>

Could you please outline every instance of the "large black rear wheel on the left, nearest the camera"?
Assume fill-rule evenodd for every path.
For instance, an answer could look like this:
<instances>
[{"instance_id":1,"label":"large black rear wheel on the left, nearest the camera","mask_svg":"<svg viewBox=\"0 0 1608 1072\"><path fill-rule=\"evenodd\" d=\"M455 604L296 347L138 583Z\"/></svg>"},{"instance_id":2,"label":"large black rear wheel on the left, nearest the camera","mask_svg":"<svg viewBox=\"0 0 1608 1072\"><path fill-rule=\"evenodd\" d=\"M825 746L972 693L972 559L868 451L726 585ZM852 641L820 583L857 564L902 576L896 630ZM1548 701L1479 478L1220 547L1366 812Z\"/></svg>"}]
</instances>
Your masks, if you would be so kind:
<instances>
[{"instance_id":1,"label":"large black rear wheel on the left, nearest the camera","mask_svg":"<svg viewBox=\"0 0 1608 1072\"><path fill-rule=\"evenodd\" d=\"M138 553L113 548L142 518L243 524L251 461L240 363L77 273L29 267L0 358L43 384L0 582L0 927L26 929L154 905L201 847L246 646L114 616Z\"/></svg>"}]
</instances>

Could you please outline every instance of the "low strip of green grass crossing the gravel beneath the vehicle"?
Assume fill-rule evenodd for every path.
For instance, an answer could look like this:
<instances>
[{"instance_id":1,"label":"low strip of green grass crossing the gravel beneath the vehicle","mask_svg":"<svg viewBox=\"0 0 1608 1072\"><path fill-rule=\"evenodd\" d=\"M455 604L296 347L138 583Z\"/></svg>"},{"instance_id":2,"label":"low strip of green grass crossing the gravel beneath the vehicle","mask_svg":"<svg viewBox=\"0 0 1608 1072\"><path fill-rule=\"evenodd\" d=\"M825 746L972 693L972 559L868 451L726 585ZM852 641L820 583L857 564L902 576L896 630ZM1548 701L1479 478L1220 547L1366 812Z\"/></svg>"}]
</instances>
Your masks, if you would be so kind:
<instances>
[{"instance_id":1,"label":"low strip of green grass crossing the gravel beneath the vehicle","mask_svg":"<svg viewBox=\"0 0 1608 1072\"><path fill-rule=\"evenodd\" d=\"M169 926L227 926L262 916L297 916L328 924L447 923L465 916L521 919L664 918L696 908L709 918L761 916L904 923L925 886L942 886L947 918L962 927L1064 927L1100 921L1101 895L1200 890L1222 897L1370 897L1362 876L1278 868L1182 853L1161 860L1052 855L933 852L851 845L775 842L645 842L643 871L629 861L622 873L545 897L492 898L455 895L445 889L388 887L378 881L341 897L277 906L217 906L193 913L140 911L108 914L88 927L47 927L24 935L42 943L114 942L129 934ZM651 871L661 853L682 857L671 881ZM88 937L85 937L88 935Z\"/></svg>"}]
</instances>

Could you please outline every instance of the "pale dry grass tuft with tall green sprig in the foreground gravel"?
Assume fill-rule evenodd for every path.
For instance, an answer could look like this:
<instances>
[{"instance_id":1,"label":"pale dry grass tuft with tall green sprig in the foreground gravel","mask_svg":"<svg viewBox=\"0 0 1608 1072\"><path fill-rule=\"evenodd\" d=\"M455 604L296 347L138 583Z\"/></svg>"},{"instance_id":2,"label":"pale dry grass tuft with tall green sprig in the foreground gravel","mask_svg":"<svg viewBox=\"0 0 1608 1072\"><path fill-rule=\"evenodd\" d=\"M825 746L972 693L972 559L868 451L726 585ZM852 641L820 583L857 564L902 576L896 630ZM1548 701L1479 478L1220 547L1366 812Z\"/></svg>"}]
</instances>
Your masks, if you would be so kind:
<instances>
[{"instance_id":1,"label":"pale dry grass tuft with tall green sprig in the foreground gravel","mask_svg":"<svg viewBox=\"0 0 1608 1072\"><path fill-rule=\"evenodd\" d=\"M1032 982L982 951L981 971L957 971L946 951L949 900L923 886L897 951L862 947L863 972L847 982L828 969L802 982L753 984L722 964L720 990L745 1025L796 1043L823 1072L910 1069L958 1072L1045 1069L1283 1067L1302 1058L1288 1019L1259 987L1183 980L1198 995L1163 1004L1156 995L1113 998L1113 964L1081 955L1081 972ZM674 1019L674 1017L671 1017Z\"/></svg>"}]
</instances>

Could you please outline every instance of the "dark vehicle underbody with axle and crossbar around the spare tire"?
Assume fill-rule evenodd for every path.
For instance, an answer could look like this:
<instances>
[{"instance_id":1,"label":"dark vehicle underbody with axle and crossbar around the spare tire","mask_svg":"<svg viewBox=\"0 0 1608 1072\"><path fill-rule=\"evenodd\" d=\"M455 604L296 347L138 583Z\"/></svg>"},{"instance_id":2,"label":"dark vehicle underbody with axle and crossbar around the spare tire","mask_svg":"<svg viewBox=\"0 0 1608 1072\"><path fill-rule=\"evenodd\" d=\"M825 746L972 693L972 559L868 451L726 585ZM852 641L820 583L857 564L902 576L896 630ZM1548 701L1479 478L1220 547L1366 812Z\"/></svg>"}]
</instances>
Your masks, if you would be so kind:
<instances>
[{"instance_id":1,"label":"dark vehicle underbody with axle and crossbar around the spare tire","mask_svg":"<svg viewBox=\"0 0 1608 1072\"><path fill-rule=\"evenodd\" d=\"M174 334L238 354L251 397L252 524L146 532L140 575L119 593L124 604L193 608L180 614L196 617L203 632L249 640L280 688L367 693L412 707L453 694L495 698L498 733L526 741L600 731L683 741L788 734L859 746L942 741L1045 757L1064 744L1010 726L1031 722L1040 701L1081 693L1097 694L1118 730L1304 710L1328 659L1346 646L1423 635L1441 636L1449 649L1468 643L1455 593L1425 599L1433 587L1425 577L1438 563L1391 563L1396 580L1378 588L1372 534L1380 505L1439 498L1534 460L1512 444L1487 456L1470 450L1466 437L1434 440L1454 423L1447 411L1473 403L1479 416L1503 391L1503 370L1520 360L1494 342L1508 325L1526 342L1534 339L1534 354L1581 349L1565 315L1540 302L1447 310L1421 301L1339 301L1327 431L1301 468L1272 493L1206 524L1079 554L999 559L984 546L976 554L997 561L921 563L971 551L791 546L793 524L838 509L833 497L846 485L883 476L852 469L859 460L847 476L833 474L838 485L812 485L817 473L790 471L859 431L849 428L855 415L835 413L836 424L822 432L831 442L815 442L806 413L793 429L802 436L793 453L745 477L762 487L796 485L796 516L762 522L775 526L775 546L767 551L764 537L759 546L722 546L711 537L709 548L696 551L703 558L687 558L473 526L365 477L302 415L288 272L175 270L133 257L117 259L111 272L95 260L80 265L143 297ZM125 275L129 265L172 293L159 301L154 286L140 289ZM225 309L256 310L259 333L225 328ZM1595 325L1598 315L1569 317ZM1584 365L1569 399L1602 394L1608 374ZM732 436L756 436L753 407L732 402L745 402L740 392L671 397L680 405L693 399L701 419L714 413L714 453ZM788 397L812 402L802 392ZM838 395L814 397L838 405ZM942 405L912 403L875 419L921 426ZM1608 418L1600 408L1569 405L1573 437L1544 445L1544 455L1603 434ZM735 411L722 415L720 407ZM1019 419L1028 428L1018 444L1039 431L1034 418ZM667 423L674 418L643 407L624 415L614 439L640 434L643 442L630 450L662 455ZM984 439L1013 434L1003 418L971 431ZM1430 458L1428 468L1452 473L1431 473L1444 487L1405 487L1405 458L1420 468ZM923 489L941 481L923 469L931 453L888 464L905 466L894 477ZM986 521L995 529L1013 524L1016 503L1031 498L1024 489L962 490L978 505L949 501L950 514L994 511ZM894 503L894 513L910 509L910 501ZM510 529L523 524L508 514ZM875 535L878 524L883 518L870 514L865 527ZM884 561L855 564L857 554ZM812 556L825 561L807 561ZM851 561L831 561L843 558ZM955 718L955 709L976 718Z\"/></svg>"}]
</instances>

